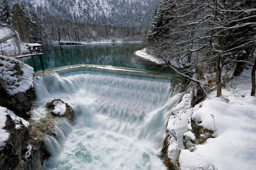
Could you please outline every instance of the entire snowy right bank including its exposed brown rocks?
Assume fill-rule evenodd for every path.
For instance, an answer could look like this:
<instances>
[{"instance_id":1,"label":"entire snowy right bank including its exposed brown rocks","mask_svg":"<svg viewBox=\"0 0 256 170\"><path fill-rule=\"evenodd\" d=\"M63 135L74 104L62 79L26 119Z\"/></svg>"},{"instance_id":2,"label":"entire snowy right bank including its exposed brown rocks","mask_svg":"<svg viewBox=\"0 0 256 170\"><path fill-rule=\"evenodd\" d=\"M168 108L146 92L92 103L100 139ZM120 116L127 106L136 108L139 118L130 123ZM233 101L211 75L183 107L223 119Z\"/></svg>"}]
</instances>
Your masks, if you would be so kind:
<instances>
[{"instance_id":1,"label":"entire snowy right bank including its exposed brown rocks","mask_svg":"<svg viewBox=\"0 0 256 170\"><path fill-rule=\"evenodd\" d=\"M181 169L256 169L256 99L250 69L189 108L190 96L168 120L168 157ZM198 131L195 131L198 129ZM199 136L198 136L199 135Z\"/></svg>"}]
</instances>

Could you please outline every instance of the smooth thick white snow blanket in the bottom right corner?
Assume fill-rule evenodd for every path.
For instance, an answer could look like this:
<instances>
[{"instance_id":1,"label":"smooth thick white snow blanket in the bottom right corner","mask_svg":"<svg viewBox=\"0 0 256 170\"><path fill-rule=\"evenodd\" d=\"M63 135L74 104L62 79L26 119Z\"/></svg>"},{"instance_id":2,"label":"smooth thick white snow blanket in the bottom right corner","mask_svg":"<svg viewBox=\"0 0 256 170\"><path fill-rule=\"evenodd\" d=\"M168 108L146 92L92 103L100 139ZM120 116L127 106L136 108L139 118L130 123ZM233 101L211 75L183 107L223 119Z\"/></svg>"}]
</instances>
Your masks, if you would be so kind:
<instances>
[{"instance_id":1,"label":"smooth thick white snow blanket in the bottom right corner","mask_svg":"<svg viewBox=\"0 0 256 170\"><path fill-rule=\"evenodd\" d=\"M196 146L194 152L182 150L182 169L198 165L206 167L204 162L211 162L218 169L255 169L256 99L250 96L229 98L230 104L223 97L211 97L195 111L193 117L200 119L205 129L214 131L216 138ZM215 121L211 115L214 115Z\"/></svg>"}]
</instances>

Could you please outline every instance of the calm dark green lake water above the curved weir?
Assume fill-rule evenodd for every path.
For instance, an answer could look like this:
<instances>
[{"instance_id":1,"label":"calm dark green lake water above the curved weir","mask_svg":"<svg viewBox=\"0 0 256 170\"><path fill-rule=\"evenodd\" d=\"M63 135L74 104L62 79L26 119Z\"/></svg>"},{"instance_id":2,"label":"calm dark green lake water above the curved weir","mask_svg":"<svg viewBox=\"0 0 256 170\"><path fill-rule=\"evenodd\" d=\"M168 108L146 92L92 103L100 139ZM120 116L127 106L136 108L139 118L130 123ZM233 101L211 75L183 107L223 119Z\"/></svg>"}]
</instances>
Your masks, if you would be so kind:
<instances>
[{"instance_id":1,"label":"calm dark green lake water above the curved weir","mask_svg":"<svg viewBox=\"0 0 256 170\"><path fill-rule=\"evenodd\" d=\"M134 55L143 48L142 43L114 43L100 45L46 46L43 62L45 69L69 66L74 64L96 64L104 66L128 67L148 71L170 72L162 66L141 59ZM36 69L41 70L39 57L34 57ZM24 60L33 67L30 57Z\"/></svg>"}]
</instances>

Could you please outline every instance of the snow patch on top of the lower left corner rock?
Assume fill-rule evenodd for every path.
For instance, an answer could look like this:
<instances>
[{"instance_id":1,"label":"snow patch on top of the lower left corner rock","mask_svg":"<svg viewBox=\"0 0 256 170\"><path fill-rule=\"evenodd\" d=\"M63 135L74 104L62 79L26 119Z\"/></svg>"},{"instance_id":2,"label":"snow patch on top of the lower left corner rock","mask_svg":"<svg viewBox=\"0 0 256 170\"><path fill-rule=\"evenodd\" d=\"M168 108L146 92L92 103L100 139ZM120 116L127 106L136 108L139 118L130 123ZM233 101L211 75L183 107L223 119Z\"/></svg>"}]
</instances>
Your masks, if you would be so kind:
<instances>
[{"instance_id":1,"label":"snow patch on top of the lower left corner rock","mask_svg":"<svg viewBox=\"0 0 256 170\"><path fill-rule=\"evenodd\" d=\"M10 115L13 122L15 122L16 129L19 129L21 127L21 122L25 127L29 126L29 122L27 122L23 118L17 117L13 113L13 111L7 110L7 108L3 108L0 106L0 147L5 146L5 141L9 138L9 133L3 129L6 123L6 115Z\"/></svg>"}]
</instances>

